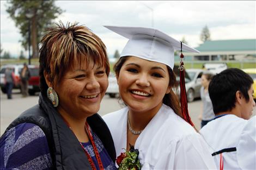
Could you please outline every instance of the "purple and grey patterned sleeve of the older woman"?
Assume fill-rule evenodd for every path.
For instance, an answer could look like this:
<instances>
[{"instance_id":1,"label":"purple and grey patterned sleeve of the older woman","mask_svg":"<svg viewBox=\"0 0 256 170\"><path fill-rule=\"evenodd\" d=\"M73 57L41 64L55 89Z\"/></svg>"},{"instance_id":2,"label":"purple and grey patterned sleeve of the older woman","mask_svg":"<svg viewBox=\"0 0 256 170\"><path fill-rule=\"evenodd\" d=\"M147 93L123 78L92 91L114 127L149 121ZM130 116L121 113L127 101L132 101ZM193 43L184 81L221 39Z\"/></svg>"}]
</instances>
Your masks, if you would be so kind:
<instances>
[{"instance_id":1,"label":"purple and grey patterned sleeve of the older woman","mask_svg":"<svg viewBox=\"0 0 256 170\"><path fill-rule=\"evenodd\" d=\"M33 123L11 128L0 140L0 169L51 169L52 159L46 136Z\"/></svg>"}]
</instances>

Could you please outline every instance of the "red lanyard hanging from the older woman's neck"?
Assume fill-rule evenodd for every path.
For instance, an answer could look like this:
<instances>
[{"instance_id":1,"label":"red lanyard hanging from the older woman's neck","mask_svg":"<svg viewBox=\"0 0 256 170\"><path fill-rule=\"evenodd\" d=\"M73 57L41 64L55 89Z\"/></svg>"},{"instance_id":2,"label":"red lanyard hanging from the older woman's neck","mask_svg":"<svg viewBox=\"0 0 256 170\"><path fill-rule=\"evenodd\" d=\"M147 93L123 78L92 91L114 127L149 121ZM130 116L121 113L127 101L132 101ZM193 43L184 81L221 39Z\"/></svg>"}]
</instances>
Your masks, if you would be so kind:
<instances>
[{"instance_id":1,"label":"red lanyard hanging from the older woman's neck","mask_svg":"<svg viewBox=\"0 0 256 170\"><path fill-rule=\"evenodd\" d=\"M69 123L66 121L66 119L64 117L62 117L64 122L68 125L68 127L70 128L70 130L72 131L72 133L74 133L74 131L71 129ZM84 126L84 129L88 131L88 136L89 136L89 140L90 142L92 143L92 146L93 146L93 150L94 150L94 153L95 153L95 156L96 156L96 160L97 160L97 163L99 165L99 168L100 170L104 170L104 167L103 167L103 164L102 164L102 161L100 159L100 154L97 150L97 147L96 147L96 144L94 143L94 140L93 140L93 134L92 134L92 131L89 127L89 124L86 122L86 125ZM74 133L75 135L75 133ZM83 148L83 151L84 153L86 154L87 158L88 158L88 161L90 163L90 166L92 167L93 170L96 170L96 166L93 162L93 159L90 157L89 153L87 152L86 148L84 148L83 144L80 142L81 144L81 147Z\"/></svg>"}]
</instances>

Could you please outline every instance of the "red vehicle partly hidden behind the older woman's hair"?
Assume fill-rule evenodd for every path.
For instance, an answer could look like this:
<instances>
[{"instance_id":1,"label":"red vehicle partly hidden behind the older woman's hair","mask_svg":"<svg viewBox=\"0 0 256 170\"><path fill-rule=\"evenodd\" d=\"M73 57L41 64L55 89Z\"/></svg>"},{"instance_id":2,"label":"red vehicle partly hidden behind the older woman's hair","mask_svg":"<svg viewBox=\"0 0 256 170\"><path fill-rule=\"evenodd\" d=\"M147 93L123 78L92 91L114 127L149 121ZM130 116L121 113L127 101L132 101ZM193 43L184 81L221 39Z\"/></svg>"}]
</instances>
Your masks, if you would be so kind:
<instances>
[{"instance_id":1,"label":"red vehicle partly hidden behind the older woman's hair","mask_svg":"<svg viewBox=\"0 0 256 170\"><path fill-rule=\"evenodd\" d=\"M35 95L35 92L40 92L39 88L39 66L29 68L31 77L28 80L28 93L29 95Z\"/></svg>"}]
</instances>

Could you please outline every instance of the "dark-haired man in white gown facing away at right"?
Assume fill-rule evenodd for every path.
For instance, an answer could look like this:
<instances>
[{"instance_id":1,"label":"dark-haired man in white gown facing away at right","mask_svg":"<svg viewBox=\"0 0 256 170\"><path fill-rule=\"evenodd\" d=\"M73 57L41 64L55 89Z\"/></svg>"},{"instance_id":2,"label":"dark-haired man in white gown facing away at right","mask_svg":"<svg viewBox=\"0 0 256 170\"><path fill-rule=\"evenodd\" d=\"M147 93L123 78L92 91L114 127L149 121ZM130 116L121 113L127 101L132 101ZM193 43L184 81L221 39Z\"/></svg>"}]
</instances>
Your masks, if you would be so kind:
<instances>
[{"instance_id":1,"label":"dark-haired man in white gown facing away at right","mask_svg":"<svg viewBox=\"0 0 256 170\"><path fill-rule=\"evenodd\" d=\"M215 118L200 130L200 134L208 143L216 166L221 170L256 169L256 136L243 135L248 134L246 126L255 107L253 79L238 68L228 68L212 78L209 95Z\"/></svg>"}]
</instances>

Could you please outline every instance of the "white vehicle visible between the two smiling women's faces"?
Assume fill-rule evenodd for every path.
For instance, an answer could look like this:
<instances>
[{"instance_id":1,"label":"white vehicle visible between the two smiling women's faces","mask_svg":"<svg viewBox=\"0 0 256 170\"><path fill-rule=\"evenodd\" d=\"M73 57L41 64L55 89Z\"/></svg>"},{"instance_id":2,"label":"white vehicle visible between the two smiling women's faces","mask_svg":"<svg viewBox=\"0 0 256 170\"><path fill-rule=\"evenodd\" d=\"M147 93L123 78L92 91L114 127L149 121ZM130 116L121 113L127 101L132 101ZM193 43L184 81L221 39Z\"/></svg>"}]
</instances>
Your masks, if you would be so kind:
<instances>
[{"instance_id":1,"label":"white vehicle visible between the two smiling women's faces","mask_svg":"<svg viewBox=\"0 0 256 170\"><path fill-rule=\"evenodd\" d=\"M108 88L106 91L106 95L109 95L111 98L115 98L119 94L119 88L117 84L117 78L115 74L110 72L108 76Z\"/></svg>"}]
</instances>

